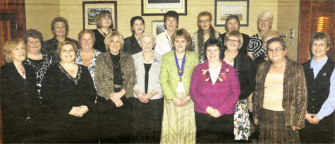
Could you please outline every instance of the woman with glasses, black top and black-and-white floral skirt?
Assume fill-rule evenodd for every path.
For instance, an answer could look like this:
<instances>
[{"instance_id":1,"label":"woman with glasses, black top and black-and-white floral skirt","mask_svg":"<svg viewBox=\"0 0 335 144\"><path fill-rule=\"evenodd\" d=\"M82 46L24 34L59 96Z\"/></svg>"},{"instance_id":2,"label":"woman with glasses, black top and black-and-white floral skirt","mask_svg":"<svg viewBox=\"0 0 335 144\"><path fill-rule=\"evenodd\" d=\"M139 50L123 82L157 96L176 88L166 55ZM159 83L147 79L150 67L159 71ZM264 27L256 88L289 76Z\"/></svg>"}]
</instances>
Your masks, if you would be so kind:
<instances>
[{"instance_id":1,"label":"woman with glasses, black top and black-and-white floral skirt","mask_svg":"<svg viewBox=\"0 0 335 144\"><path fill-rule=\"evenodd\" d=\"M243 44L242 34L238 30L231 30L224 37L226 49L221 56L224 61L236 68L238 80L240 82L240 96L236 103L236 113L234 115L234 135L235 140L248 140L250 136L250 119L248 110L248 96L255 88L255 73L252 71L252 59L238 51Z\"/></svg>"}]
</instances>

